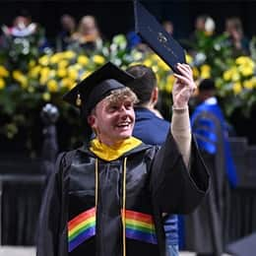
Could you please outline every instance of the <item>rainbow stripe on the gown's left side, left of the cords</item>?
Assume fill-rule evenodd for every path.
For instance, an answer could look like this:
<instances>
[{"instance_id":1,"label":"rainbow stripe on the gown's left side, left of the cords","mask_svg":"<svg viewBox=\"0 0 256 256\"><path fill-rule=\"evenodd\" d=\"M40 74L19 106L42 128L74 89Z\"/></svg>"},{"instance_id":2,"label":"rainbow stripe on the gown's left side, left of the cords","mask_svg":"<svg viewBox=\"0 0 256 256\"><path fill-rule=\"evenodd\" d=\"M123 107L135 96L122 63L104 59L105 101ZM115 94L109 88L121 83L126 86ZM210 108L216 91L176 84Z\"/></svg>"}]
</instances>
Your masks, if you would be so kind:
<instances>
[{"instance_id":1,"label":"rainbow stripe on the gown's left side, left of the cords","mask_svg":"<svg viewBox=\"0 0 256 256\"><path fill-rule=\"evenodd\" d=\"M96 234L96 208L92 208L68 223L69 252Z\"/></svg>"}]
</instances>

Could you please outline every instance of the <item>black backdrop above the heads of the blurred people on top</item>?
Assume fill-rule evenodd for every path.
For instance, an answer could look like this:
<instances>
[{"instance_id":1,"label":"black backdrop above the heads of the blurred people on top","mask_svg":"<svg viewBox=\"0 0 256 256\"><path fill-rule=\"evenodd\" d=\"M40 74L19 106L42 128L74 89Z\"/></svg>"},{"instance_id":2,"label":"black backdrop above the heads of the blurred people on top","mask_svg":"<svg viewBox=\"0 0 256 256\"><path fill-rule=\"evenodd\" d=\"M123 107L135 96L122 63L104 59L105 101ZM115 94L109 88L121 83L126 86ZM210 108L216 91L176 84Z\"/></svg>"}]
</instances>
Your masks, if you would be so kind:
<instances>
[{"instance_id":1,"label":"black backdrop above the heads of the blurred people on top","mask_svg":"<svg viewBox=\"0 0 256 256\"><path fill-rule=\"evenodd\" d=\"M200 14L209 14L214 18L217 33L224 31L224 20L227 17L238 16L242 20L245 34L249 38L256 34L256 1L141 0L141 3L160 22L172 21L174 37L177 39L188 37L194 29L195 18ZM99 28L106 38L134 28L132 0L0 0L0 25L11 26L12 20L23 9L28 10L33 22L46 29L47 38L52 42L60 30L59 20L64 13L74 16L77 22L84 15L96 16Z\"/></svg>"}]
</instances>

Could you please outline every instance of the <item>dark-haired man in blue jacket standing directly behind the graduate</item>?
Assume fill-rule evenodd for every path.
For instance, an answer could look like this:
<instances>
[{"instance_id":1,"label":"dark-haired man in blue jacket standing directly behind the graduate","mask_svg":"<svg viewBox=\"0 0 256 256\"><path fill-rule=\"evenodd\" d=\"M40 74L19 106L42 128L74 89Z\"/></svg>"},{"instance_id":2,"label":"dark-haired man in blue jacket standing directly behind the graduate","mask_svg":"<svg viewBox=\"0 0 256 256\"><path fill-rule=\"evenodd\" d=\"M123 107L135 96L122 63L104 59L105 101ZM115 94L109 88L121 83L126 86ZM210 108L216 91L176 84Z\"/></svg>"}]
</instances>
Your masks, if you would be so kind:
<instances>
[{"instance_id":1,"label":"dark-haired man in blue jacket standing directly behind the graduate","mask_svg":"<svg viewBox=\"0 0 256 256\"><path fill-rule=\"evenodd\" d=\"M169 130L169 122L162 119L155 108L159 98L157 77L154 71L144 65L127 69L135 77L129 87L138 96L135 107L136 121L133 136L150 145L162 145ZM176 215L163 215L166 256L178 255L178 224Z\"/></svg>"}]
</instances>

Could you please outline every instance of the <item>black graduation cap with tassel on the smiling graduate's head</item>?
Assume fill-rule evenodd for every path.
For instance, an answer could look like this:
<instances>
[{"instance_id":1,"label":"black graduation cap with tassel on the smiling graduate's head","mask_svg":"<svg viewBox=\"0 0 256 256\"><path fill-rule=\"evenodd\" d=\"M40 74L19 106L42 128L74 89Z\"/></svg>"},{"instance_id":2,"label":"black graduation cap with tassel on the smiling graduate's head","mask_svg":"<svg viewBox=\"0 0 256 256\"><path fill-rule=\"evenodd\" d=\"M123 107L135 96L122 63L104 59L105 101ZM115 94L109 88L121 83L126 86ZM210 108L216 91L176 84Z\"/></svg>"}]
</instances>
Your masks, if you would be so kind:
<instances>
[{"instance_id":1,"label":"black graduation cap with tassel on the smiling graduate's head","mask_svg":"<svg viewBox=\"0 0 256 256\"><path fill-rule=\"evenodd\" d=\"M65 101L81 110L86 143L89 142L92 135L92 129L87 123L90 112L101 99L110 95L113 90L122 89L133 80L132 75L111 62L107 62L63 96Z\"/></svg>"}]
</instances>

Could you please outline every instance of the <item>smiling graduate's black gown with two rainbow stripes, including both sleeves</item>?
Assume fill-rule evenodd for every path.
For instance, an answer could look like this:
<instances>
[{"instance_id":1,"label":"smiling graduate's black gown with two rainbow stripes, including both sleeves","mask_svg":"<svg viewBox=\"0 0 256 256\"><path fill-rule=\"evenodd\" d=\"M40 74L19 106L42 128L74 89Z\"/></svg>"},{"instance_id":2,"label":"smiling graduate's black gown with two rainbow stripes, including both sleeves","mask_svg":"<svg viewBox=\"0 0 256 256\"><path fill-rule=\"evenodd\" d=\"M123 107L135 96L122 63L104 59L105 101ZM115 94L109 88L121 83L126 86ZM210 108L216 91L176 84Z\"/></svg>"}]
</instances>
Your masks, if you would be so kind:
<instances>
[{"instance_id":1,"label":"smiling graduate's black gown with two rainbow stripes, including both sleeves","mask_svg":"<svg viewBox=\"0 0 256 256\"><path fill-rule=\"evenodd\" d=\"M141 144L117 160L96 163L86 148L63 154L45 191L37 256L164 255L161 213L191 212L208 186L194 142L189 174L170 134L161 148Z\"/></svg>"}]
</instances>

